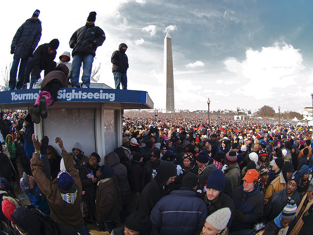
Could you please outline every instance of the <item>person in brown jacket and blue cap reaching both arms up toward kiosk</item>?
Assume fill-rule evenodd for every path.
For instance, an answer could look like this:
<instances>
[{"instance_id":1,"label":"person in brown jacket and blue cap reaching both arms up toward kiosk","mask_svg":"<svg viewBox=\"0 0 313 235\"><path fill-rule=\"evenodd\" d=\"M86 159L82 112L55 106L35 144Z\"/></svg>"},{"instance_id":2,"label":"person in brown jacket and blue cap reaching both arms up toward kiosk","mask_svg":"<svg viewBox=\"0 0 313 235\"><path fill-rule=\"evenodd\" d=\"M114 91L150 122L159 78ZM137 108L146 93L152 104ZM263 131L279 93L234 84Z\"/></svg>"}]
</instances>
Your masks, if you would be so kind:
<instances>
[{"instance_id":1,"label":"person in brown jacket and blue cap reaching both arms up toward kiosk","mask_svg":"<svg viewBox=\"0 0 313 235\"><path fill-rule=\"evenodd\" d=\"M80 209L82 184L73 160L63 146L63 141L59 137L55 139L62 150L66 171L60 171L53 182L46 178L43 171L43 164L40 160L40 151L44 151L42 143L38 141L38 136L36 137L35 134L32 136L32 141L35 152L31 159L31 171L39 188L47 198L51 217L59 224L71 228L81 235L90 235L85 227ZM47 148L47 143L45 145Z\"/></svg>"}]
</instances>

